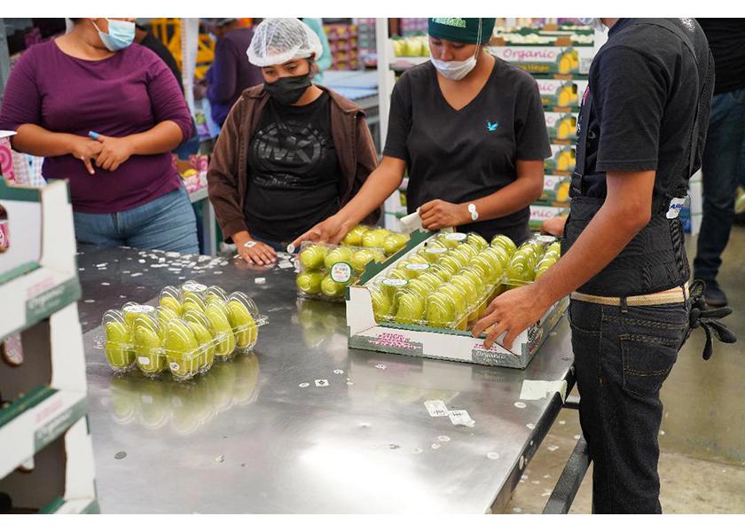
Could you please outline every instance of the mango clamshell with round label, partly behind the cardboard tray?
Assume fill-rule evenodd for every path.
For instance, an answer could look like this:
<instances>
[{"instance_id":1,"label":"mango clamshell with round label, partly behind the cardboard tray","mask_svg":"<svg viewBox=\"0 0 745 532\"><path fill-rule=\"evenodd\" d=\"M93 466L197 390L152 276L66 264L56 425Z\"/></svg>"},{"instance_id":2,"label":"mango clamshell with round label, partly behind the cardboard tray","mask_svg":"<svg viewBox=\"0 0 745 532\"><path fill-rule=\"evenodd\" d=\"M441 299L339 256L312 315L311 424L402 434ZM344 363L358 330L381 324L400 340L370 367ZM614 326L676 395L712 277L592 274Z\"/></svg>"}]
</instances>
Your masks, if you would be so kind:
<instances>
[{"instance_id":1,"label":"mango clamshell with round label, partly behind the cardboard tray","mask_svg":"<svg viewBox=\"0 0 745 532\"><path fill-rule=\"evenodd\" d=\"M344 301L347 286L359 281L371 262L385 262L401 250L409 235L357 225L341 244L302 242L297 265L297 293L303 298Z\"/></svg>"}]
</instances>

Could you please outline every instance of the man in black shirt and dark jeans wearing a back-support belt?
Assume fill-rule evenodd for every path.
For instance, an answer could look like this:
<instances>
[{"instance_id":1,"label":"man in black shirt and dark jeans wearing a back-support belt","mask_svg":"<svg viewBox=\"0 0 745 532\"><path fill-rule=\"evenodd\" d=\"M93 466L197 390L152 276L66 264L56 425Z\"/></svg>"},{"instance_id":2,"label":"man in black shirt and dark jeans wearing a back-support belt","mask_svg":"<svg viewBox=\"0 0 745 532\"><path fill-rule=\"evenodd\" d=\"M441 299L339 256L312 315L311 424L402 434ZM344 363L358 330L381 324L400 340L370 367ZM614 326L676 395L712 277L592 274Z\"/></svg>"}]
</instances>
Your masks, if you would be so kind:
<instances>
[{"instance_id":1,"label":"man in black shirt and dark jeans wearing a back-support belt","mask_svg":"<svg viewBox=\"0 0 745 532\"><path fill-rule=\"evenodd\" d=\"M501 344L510 348L571 294L592 510L655 513L660 388L692 305L678 213L700 166L713 61L693 19L594 21L610 30L577 124L566 253L532 285L494 300L474 335L495 325L485 345L506 333Z\"/></svg>"}]
</instances>

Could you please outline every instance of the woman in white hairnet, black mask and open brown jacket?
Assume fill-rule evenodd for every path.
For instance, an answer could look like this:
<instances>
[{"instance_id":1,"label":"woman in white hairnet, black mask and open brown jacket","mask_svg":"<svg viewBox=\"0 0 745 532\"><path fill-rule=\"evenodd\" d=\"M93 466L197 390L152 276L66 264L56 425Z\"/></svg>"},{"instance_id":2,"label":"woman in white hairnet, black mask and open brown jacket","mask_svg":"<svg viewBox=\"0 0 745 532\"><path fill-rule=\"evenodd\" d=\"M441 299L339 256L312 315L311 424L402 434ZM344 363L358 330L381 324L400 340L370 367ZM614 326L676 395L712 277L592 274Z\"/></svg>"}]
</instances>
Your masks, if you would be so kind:
<instances>
[{"instance_id":1,"label":"woman in white hairnet, black mask and open brown jacket","mask_svg":"<svg viewBox=\"0 0 745 532\"><path fill-rule=\"evenodd\" d=\"M354 197L377 165L362 109L311 82L321 50L297 19L263 20L248 47L264 83L232 107L208 171L217 221L246 262L275 262L279 249ZM374 223L380 212L366 215Z\"/></svg>"}]
</instances>

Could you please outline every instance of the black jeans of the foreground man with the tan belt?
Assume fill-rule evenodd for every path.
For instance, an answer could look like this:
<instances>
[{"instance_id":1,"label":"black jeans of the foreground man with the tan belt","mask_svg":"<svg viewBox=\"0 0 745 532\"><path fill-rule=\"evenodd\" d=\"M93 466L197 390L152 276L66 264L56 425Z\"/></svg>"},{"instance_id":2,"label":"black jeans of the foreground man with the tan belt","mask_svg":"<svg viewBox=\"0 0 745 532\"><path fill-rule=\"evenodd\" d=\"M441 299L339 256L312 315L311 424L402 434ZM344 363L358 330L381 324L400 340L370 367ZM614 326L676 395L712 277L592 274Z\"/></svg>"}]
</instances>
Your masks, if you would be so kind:
<instances>
[{"instance_id":1,"label":"black jeans of the foreground man with the tan belt","mask_svg":"<svg viewBox=\"0 0 745 532\"><path fill-rule=\"evenodd\" d=\"M661 513L660 388L686 340L686 303L571 301L579 419L592 458L593 513Z\"/></svg>"}]
</instances>

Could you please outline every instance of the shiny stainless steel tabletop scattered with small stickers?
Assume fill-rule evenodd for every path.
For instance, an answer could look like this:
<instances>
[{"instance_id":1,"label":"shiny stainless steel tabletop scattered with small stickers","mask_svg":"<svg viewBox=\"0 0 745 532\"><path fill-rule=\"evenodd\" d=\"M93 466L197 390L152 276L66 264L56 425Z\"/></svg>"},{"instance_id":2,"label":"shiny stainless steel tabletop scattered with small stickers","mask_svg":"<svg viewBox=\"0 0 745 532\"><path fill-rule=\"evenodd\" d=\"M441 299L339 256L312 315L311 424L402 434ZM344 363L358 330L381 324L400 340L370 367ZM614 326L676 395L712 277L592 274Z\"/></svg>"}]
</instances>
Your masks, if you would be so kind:
<instances>
[{"instance_id":1,"label":"shiny stainless steel tabletop scattered with small stickers","mask_svg":"<svg viewBox=\"0 0 745 532\"><path fill-rule=\"evenodd\" d=\"M520 403L522 380L574 386L563 319L527 370L493 368L349 349L343 305L296 300L293 270L88 246L78 262L102 512L499 511L561 410ZM185 278L255 299L255 354L183 385L114 377L103 312ZM438 399L475 426L430 417Z\"/></svg>"}]
</instances>

